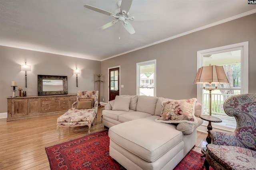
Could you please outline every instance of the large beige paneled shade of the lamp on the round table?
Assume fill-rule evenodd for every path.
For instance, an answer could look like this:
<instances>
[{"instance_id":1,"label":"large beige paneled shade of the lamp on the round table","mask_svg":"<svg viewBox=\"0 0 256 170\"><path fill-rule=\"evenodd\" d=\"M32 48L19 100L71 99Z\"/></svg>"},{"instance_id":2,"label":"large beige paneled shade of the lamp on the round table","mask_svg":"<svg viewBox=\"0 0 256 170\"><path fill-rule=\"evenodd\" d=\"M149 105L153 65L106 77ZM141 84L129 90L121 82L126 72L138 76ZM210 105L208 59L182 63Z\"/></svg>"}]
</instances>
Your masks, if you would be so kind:
<instances>
[{"instance_id":1,"label":"large beige paneled shade of the lamp on the round table","mask_svg":"<svg viewBox=\"0 0 256 170\"><path fill-rule=\"evenodd\" d=\"M228 83L223 66L203 66L198 69L194 83Z\"/></svg>"}]
</instances>

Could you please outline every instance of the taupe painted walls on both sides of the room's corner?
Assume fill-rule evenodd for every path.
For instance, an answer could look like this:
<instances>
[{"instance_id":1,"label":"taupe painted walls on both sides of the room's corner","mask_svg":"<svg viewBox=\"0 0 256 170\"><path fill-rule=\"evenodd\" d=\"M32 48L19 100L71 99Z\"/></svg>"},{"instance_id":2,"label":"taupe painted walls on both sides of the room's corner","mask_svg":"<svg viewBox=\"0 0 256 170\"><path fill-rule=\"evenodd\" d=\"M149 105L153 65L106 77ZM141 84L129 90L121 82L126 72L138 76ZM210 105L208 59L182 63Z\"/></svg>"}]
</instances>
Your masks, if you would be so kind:
<instances>
[{"instance_id":1,"label":"taupe painted walls on both sides of the room's corner","mask_svg":"<svg viewBox=\"0 0 256 170\"><path fill-rule=\"evenodd\" d=\"M136 63L156 59L156 95L184 99L196 97L196 52L204 49L249 41L249 92L256 93L256 14L216 25L164 43L153 45L106 61L92 61L50 53L0 46L0 113L7 112L11 81L37 95L37 75L68 76L68 93L77 90L98 90L96 74L103 74L100 101L108 99L108 68L120 66L121 94L136 94ZM25 72L20 64L32 65L25 88ZM78 88L73 69L78 67ZM16 92L18 94L18 92Z\"/></svg>"}]
</instances>

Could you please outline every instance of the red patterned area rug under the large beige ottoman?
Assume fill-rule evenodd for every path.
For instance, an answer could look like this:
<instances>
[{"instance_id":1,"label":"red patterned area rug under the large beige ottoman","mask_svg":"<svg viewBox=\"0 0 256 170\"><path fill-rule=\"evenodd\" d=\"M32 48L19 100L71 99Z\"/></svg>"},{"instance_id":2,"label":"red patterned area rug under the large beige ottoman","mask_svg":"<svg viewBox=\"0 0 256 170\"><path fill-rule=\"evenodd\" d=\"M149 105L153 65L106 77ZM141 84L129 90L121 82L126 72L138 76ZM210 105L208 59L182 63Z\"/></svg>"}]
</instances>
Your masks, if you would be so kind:
<instances>
[{"instance_id":1,"label":"red patterned area rug under the large beige ottoman","mask_svg":"<svg viewBox=\"0 0 256 170\"><path fill-rule=\"evenodd\" d=\"M109 156L108 130L46 147L51 170L125 170ZM204 158L190 150L174 170L203 170Z\"/></svg>"}]
</instances>

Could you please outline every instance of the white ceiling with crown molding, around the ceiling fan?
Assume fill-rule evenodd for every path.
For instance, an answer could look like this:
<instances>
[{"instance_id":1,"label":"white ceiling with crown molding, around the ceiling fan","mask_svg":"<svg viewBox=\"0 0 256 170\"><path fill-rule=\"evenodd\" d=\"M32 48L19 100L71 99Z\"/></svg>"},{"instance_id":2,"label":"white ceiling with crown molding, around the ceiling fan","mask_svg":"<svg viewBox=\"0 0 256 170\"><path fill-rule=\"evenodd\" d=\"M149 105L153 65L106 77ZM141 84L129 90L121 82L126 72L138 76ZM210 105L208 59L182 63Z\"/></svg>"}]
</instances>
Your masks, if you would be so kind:
<instances>
[{"instance_id":1,"label":"white ceiling with crown molding, around the ceiling fan","mask_svg":"<svg viewBox=\"0 0 256 170\"><path fill-rule=\"evenodd\" d=\"M118 0L0 0L0 45L102 61L219 23L256 13L247 0L133 0L130 15L153 13L157 20L130 21L104 30ZM120 37L120 39L119 39Z\"/></svg>"}]
</instances>

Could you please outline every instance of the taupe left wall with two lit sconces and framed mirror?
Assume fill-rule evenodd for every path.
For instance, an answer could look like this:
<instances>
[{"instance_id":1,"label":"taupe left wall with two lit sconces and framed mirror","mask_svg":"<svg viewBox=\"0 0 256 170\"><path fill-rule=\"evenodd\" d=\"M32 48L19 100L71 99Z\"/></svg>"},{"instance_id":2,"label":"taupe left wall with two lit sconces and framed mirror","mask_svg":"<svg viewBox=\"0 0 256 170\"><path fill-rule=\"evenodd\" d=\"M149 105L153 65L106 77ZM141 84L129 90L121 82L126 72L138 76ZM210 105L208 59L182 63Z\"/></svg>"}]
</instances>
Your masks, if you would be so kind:
<instances>
[{"instance_id":1,"label":"taupe left wall with two lit sconces and framed mirror","mask_svg":"<svg viewBox=\"0 0 256 170\"><path fill-rule=\"evenodd\" d=\"M25 62L32 67L32 71L27 72L27 88L25 72L20 71L20 64ZM76 75L73 74L76 67L81 70L78 87ZM100 72L100 61L0 46L0 113L7 112L6 98L12 96L12 81L16 81L17 86L26 91L27 96L37 96L38 74L68 76L68 93L72 94L77 90L98 90L98 83L94 81L98 80L96 74Z\"/></svg>"}]
</instances>

